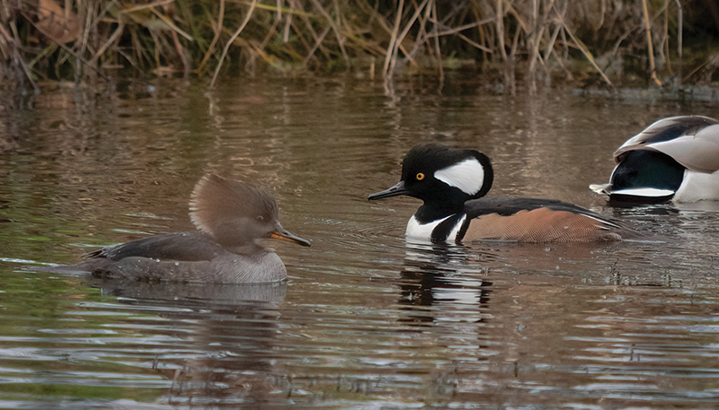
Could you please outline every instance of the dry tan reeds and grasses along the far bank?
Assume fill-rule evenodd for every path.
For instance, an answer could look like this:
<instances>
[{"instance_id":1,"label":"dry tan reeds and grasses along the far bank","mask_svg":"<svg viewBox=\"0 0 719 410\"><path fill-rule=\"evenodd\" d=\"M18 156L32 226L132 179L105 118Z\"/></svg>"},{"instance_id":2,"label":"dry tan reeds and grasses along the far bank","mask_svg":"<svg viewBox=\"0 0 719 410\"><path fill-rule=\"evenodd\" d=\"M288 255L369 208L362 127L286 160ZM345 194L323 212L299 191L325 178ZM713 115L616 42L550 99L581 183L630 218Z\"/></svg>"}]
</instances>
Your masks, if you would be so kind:
<instances>
[{"instance_id":1,"label":"dry tan reeds and grasses along the far bank","mask_svg":"<svg viewBox=\"0 0 719 410\"><path fill-rule=\"evenodd\" d=\"M709 0L689 4L719 12ZM687 8L680 0L0 0L0 75L24 90L142 74L214 86L240 70L442 79L457 67L495 75L510 91L686 81Z\"/></svg>"}]
</instances>

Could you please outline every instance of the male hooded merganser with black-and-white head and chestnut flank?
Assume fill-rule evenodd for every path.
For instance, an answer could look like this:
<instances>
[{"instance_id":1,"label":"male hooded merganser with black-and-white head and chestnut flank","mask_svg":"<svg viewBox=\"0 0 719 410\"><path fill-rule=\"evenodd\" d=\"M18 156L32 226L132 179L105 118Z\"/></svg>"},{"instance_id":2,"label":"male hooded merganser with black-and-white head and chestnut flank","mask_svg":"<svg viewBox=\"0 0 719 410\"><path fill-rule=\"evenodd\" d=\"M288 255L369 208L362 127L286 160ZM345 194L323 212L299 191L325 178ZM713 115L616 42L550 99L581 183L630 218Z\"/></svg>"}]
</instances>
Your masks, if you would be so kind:
<instances>
[{"instance_id":1,"label":"male hooded merganser with black-and-white head and chestnut flank","mask_svg":"<svg viewBox=\"0 0 719 410\"><path fill-rule=\"evenodd\" d=\"M620 223L557 200L481 198L492 188L493 177L484 153L421 144L404 156L399 183L368 199L398 195L422 199L424 205L405 232L415 240L570 242L638 236Z\"/></svg>"}]
</instances>

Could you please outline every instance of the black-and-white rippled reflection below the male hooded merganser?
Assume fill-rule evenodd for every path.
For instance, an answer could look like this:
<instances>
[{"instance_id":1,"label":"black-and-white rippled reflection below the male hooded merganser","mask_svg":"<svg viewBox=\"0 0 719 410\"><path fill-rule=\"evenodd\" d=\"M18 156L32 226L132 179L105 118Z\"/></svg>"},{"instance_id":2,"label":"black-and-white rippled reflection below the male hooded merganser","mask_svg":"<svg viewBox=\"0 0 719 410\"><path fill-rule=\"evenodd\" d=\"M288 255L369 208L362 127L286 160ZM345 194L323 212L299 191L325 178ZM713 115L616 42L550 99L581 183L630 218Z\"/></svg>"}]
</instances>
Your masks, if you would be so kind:
<instances>
[{"instance_id":1,"label":"black-and-white rippled reflection below the male hooded merganser","mask_svg":"<svg viewBox=\"0 0 719 410\"><path fill-rule=\"evenodd\" d=\"M486 267L476 262L492 258L457 245L407 243L397 281L403 313L398 323L401 331L431 334L434 346L453 352L429 374L430 388L440 397L457 394L457 372L474 373L470 379L484 383L475 371L486 370L495 352L487 331L493 291Z\"/></svg>"}]
</instances>

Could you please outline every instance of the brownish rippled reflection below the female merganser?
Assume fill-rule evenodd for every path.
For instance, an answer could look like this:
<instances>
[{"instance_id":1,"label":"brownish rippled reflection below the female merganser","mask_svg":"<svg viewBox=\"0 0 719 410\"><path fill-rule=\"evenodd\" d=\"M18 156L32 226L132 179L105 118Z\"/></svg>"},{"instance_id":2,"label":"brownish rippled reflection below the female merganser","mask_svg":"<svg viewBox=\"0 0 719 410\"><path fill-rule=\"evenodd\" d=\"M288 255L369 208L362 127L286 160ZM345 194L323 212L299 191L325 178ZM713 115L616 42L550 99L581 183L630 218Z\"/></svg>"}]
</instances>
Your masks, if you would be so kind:
<instances>
[{"instance_id":1,"label":"brownish rippled reflection below the female merganser","mask_svg":"<svg viewBox=\"0 0 719 410\"><path fill-rule=\"evenodd\" d=\"M103 294L135 306L138 313L168 320L152 329L167 340L156 351L152 369L172 381L164 395L170 404L267 403L289 390L272 359L278 334L278 307L287 284L172 284L96 280ZM164 335L163 335L164 334Z\"/></svg>"}]
</instances>

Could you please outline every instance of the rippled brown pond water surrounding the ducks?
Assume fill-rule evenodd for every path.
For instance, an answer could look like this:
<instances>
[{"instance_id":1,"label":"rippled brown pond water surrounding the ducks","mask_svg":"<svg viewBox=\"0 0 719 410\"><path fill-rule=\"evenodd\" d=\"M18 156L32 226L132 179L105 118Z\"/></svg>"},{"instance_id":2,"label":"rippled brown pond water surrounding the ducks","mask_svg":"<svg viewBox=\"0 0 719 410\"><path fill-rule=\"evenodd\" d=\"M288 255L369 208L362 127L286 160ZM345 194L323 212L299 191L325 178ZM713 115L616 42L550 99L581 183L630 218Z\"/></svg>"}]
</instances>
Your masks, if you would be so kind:
<instances>
[{"instance_id":1,"label":"rippled brown pond water surrounding the ducks","mask_svg":"<svg viewBox=\"0 0 719 410\"><path fill-rule=\"evenodd\" d=\"M700 103L259 79L40 96L0 120L0 408L715 408L719 205L605 206L614 149ZM555 197L658 240L408 246L404 153L487 153L490 196ZM207 171L277 196L286 284L29 272L180 231ZM92 248L91 248L92 247Z\"/></svg>"}]
</instances>

